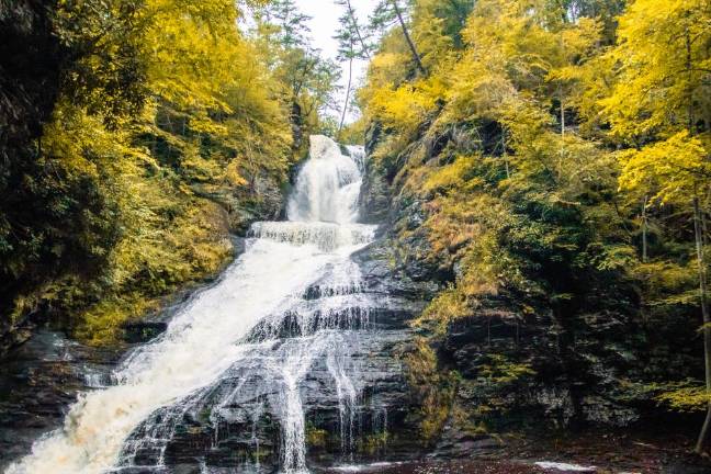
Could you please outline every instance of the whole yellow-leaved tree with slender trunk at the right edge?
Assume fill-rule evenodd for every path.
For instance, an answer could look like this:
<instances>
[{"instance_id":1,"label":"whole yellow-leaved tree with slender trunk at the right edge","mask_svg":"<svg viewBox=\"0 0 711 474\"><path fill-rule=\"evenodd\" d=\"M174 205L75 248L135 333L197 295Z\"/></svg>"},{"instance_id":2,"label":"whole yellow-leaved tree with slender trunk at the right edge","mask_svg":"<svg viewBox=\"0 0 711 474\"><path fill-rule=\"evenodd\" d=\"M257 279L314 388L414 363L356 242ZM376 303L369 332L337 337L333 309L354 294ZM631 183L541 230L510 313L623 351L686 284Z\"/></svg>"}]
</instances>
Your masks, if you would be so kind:
<instances>
[{"instance_id":1,"label":"whole yellow-leaved tree with slender trunk at the right edge","mask_svg":"<svg viewBox=\"0 0 711 474\"><path fill-rule=\"evenodd\" d=\"M620 155L620 185L687 210L693 218L703 319L708 408L696 451L711 428L711 320L703 221L711 165L711 11L703 0L636 0L620 18L609 53L617 82L600 101L612 133L634 148Z\"/></svg>"}]
</instances>

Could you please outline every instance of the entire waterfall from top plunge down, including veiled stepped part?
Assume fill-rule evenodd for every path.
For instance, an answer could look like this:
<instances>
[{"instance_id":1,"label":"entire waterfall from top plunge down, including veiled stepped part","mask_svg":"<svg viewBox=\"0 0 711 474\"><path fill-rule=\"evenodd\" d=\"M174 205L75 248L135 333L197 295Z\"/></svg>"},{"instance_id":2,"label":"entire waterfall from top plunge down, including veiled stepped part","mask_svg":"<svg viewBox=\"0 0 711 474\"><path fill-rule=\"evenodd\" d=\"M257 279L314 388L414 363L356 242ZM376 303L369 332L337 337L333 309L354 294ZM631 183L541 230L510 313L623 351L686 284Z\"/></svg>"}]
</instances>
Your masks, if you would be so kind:
<instances>
[{"instance_id":1,"label":"entire waterfall from top plunge down, including veiled stepped part","mask_svg":"<svg viewBox=\"0 0 711 474\"><path fill-rule=\"evenodd\" d=\"M163 335L135 349L113 385L97 381L95 391L82 393L64 427L37 440L7 474L165 472L177 426L206 405L213 442L249 409L245 437L259 452L264 404L281 427L282 472L306 472L302 390L317 359L332 376L348 450L359 396L349 358L358 338L349 331L369 325L371 304L359 294L349 257L374 235L373 226L357 223L363 160L362 148L347 156L330 138L312 136L289 221L252 225L245 252L216 284L193 295Z\"/></svg>"}]
</instances>

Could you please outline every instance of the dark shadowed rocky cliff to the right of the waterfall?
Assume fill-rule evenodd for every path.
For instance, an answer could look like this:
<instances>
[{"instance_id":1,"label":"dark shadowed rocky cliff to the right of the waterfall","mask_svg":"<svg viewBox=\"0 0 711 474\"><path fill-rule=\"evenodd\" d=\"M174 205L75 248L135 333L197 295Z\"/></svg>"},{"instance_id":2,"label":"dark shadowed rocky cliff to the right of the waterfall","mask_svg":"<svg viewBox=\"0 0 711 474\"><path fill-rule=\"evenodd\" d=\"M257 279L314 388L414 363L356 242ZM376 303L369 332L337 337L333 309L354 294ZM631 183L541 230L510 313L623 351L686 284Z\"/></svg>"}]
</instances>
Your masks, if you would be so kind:
<instances>
[{"instance_id":1,"label":"dark shadowed rocky cliff to the right of the waterfall","mask_svg":"<svg viewBox=\"0 0 711 474\"><path fill-rule=\"evenodd\" d=\"M377 124L371 126L368 150L386 136ZM427 282L426 302L454 283L460 263L433 249L426 225L431 204L426 193L406 184L408 163L447 159L447 150L456 148L454 139L447 134L422 138L400 156L372 160L364 181L366 218L385 218L381 241L364 253L391 278ZM388 162L399 166L388 169ZM539 274L545 271L565 279L571 269ZM440 454L471 454L477 447L482 452L505 447L490 441L507 433L641 433L659 424L692 439L699 420L689 425L693 418L665 410L651 386L679 373L699 377L699 339L681 321L652 327L635 283L608 276L586 276L585 287L571 289L580 297L557 304L504 287L482 295L473 314L443 328L410 320L413 339L400 353L410 392L408 419L418 424L421 445Z\"/></svg>"}]
</instances>

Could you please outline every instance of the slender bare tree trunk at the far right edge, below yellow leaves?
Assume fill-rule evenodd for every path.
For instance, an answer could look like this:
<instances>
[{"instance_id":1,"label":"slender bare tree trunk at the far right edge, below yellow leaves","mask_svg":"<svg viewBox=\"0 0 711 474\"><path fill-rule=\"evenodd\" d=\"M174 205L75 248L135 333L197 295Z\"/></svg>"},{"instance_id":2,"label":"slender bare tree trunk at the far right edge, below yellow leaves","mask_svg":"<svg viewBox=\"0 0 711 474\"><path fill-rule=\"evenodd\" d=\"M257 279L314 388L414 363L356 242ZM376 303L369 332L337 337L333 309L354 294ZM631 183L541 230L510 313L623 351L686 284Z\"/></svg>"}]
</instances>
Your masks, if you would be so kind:
<instances>
[{"instance_id":1,"label":"slender bare tree trunk at the far right edge, below yellow leaves","mask_svg":"<svg viewBox=\"0 0 711 474\"><path fill-rule=\"evenodd\" d=\"M707 395L711 396L711 318L709 317L709 306L707 302L707 269L706 261L703 258L703 228L701 219L701 207L699 205L699 199L693 199L693 230L696 237L696 248L697 248L697 262L699 266L699 292L701 296L701 315L703 317L703 362L706 369L706 385L707 385ZM706 419L703 420L703 426L701 427L701 432L699 432L699 439L695 451L701 453L703 451L703 444L706 442L707 436L709 433L709 428L711 427L711 399L708 403Z\"/></svg>"}]
</instances>

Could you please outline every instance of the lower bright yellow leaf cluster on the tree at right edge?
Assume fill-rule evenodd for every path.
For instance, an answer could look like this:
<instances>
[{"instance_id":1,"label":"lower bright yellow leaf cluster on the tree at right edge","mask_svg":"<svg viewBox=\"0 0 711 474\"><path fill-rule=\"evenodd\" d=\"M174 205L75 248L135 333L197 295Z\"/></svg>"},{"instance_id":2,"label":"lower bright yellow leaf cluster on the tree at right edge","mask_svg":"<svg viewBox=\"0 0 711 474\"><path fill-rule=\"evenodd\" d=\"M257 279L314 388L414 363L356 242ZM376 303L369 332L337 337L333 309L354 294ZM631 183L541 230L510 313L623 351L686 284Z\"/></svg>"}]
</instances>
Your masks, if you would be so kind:
<instances>
[{"instance_id":1,"label":"lower bright yellow leaf cluster on the tree at right edge","mask_svg":"<svg viewBox=\"0 0 711 474\"><path fill-rule=\"evenodd\" d=\"M668 139L647 145L640 150L618 154L622 163L622 191L652 192L662 203L687 204L709 182L711 163L709 150L699 137L679 132Z\"/></svg>"}]
</instances>

